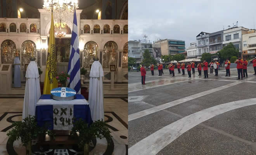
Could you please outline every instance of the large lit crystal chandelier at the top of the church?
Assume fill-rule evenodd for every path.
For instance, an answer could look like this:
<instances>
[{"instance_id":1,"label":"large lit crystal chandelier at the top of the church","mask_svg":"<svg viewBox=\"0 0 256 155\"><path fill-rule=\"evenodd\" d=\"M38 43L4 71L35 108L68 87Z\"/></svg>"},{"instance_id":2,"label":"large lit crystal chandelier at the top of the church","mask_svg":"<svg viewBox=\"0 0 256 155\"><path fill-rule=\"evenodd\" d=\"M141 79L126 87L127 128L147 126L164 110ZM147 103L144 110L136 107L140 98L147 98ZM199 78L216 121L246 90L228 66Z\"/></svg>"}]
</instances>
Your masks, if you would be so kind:
<instances>
[{"instance_id":1,"label":"large lit crystal chandelier at the top of the church","mask_svg":"<svg viewBox=\"0 0 256 155\"><path fill-rule=\"evenodd\" d=\"M73 15L74 8L78 9L78 0L44 0L43 9L47 12L53 10L54 21L62 20L67 22Z\"/></svg>"}]
</instances>

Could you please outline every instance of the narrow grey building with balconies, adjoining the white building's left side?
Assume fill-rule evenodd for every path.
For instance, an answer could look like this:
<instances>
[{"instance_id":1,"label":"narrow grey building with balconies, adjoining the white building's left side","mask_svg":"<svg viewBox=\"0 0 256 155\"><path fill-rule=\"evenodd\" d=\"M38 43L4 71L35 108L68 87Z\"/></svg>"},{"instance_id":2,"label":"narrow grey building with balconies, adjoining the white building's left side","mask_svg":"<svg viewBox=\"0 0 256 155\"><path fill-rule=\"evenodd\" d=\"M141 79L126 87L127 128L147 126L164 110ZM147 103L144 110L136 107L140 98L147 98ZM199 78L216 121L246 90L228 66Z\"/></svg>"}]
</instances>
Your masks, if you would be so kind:
<instances>
[{"instance_id":1,"label":"narrow grey building with balconies, adjoining the white building's left side","mask_svg":"<svg viewBox=\"0 0 256 155\"><path fill-rule=\"evenodd\" d=\"M223 30L209 34L209 52L217 53L222 49Z\"/></svg>"}]
</instances>

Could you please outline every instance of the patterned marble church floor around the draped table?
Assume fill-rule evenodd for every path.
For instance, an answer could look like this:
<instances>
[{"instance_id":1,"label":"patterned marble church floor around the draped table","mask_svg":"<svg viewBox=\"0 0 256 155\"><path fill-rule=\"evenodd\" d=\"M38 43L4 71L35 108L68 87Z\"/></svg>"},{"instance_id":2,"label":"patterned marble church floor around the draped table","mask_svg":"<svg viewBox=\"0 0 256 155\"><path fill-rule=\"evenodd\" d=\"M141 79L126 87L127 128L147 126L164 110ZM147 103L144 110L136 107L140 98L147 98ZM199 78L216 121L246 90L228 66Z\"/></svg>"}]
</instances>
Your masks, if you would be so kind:
<instances>
[{"instance_id":1,"label":"patterned marble church floor around the draped table","mask_svg":"<svg viewBox=\"0 0 256 155\"><path fill-rule=\"evenodd\" d=\"M11 130L12 121L21 121L23 98L0 98L0 155L8 155L6 135ZM104 98L105 121L109 125L114 147L112 155L127 155L128 151L128 98ZM20 141L14 142L14 149L23 155ZM97 140L90 155L102 155L107 150L106 139ZM54 155L74 154L73 150L54 150ZM47 153L45 153L47 155Z\"/></svg>"}]
</instances>

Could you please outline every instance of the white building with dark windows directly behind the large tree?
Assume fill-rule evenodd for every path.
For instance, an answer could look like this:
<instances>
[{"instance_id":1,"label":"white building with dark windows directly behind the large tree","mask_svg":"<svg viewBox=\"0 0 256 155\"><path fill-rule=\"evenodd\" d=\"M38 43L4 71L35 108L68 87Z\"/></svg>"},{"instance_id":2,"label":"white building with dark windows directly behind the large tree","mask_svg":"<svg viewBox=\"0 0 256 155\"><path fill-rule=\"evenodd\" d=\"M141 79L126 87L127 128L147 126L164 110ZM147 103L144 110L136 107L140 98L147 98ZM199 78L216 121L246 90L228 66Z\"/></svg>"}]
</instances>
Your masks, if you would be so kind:
<instances>
[{"instance_id":1,"label":"white building with dark windows directly behind the large tree","mask_svg":"<svg viewBox=\"0 0 256 155\"><path fill-rule=\"evenodd\" d=\"M242 35L246 34L249 29L240 27L229 28L223 31L223 47L232 43L242 54Z\"/></svg>"}]
</instances>

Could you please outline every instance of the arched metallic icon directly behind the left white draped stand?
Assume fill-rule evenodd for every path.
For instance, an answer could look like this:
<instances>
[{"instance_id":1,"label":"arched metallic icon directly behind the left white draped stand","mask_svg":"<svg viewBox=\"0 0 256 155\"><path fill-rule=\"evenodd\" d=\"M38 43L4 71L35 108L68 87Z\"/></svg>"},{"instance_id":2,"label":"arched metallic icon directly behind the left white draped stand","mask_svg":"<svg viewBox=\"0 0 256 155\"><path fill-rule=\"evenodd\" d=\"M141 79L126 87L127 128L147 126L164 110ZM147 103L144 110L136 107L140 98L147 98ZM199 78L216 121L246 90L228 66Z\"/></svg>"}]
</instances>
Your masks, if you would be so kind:
<instances>
[{"instance_id":1,"label":"arched metallic icon directly behind the left white draped stand","mask_svg":"<svg viewBox=\"0 0 256 155\"><path fill-rule=\"evenodd\" d=\"M31 40L26 40L21 44L21 70L26 71L25 65L29 64L30 57L36 58L36 44ZM37 62L37 59L35 60Z\"/></svg>"}]
</instances>

